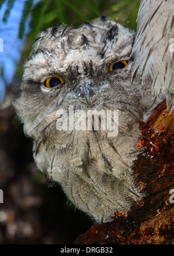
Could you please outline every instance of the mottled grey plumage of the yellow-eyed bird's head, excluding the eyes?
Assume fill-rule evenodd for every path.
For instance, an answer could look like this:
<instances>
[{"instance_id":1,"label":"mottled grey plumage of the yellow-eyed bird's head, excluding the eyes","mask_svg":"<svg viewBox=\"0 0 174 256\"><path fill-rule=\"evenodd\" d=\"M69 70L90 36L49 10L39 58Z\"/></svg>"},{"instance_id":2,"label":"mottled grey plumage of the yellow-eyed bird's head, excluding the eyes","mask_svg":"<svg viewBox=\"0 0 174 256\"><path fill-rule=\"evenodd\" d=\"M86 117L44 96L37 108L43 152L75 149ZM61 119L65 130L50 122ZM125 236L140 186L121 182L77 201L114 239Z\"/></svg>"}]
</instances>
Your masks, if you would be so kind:
<instances>
[{"instance_id":1,"label":"mottled grey plumage of the yellow-eyed bird's head, excluding the eyes","mask_svg":"<svg viewBox=\"0 0 174 256\"><path fill-rule=\"evenodd\" d=\"M139 122L157 101L148 81L131 82L134 40L135 33L106 17L79 29L58 24L42 31L14 104L49 184L60 184L74 205L97 222L111 221L115 211L127 212L142 198L131 166L139 153ZM125 59L124 69L110 70ZM46 88L45 79L55 75L64 83ZM108 130L101 129L57 130L57 111L68 113L70 105L85 113L118 109L118 136L108 137Z\"/></svg>"}]
</instances>

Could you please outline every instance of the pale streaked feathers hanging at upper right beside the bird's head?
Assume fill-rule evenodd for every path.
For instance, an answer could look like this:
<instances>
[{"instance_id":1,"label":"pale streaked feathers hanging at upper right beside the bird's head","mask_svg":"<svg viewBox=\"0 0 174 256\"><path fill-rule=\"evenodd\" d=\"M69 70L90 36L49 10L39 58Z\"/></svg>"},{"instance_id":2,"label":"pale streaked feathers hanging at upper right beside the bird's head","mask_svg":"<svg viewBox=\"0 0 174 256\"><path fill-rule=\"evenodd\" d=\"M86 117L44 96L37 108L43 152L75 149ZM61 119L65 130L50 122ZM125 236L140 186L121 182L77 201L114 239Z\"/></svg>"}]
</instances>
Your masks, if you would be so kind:
<instances>
[{"instance_id":1,"label":"pale streaked feathers hanging at upper right beside the bird's head","mask_svg":"<svg viewBox=\"0 0 174 256\"><path fill-rule=\"evenodd\" d=\"M174 0L142 0L133 45L132 79L151 84L174 111Z\"/></svg>"}]
</instances>

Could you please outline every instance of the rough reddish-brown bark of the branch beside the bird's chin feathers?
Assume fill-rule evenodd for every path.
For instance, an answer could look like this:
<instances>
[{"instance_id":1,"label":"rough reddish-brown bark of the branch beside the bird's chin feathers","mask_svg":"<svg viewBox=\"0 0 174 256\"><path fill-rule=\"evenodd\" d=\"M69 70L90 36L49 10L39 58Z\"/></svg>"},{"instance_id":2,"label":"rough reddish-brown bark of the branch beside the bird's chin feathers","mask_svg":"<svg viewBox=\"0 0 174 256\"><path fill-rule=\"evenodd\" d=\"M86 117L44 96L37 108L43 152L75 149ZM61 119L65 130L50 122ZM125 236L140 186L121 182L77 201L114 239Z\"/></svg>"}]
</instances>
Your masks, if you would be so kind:
<instances>
[{"instance_id":1,"label":"rough reddish-brown bark of the branch beside the bird's chin feathers","mask_svg":"<svg viewBox=\"0 0 174 256\"><path fill-rule=\"evenodd\" d=\"M132 169L144 197L128 213L93 225L75 244L169 244L174 239L174 113L163 102L146 123L140 123L142 149ZM172 203L173 202L173 203Z\"/></svg>"}]
</instances>

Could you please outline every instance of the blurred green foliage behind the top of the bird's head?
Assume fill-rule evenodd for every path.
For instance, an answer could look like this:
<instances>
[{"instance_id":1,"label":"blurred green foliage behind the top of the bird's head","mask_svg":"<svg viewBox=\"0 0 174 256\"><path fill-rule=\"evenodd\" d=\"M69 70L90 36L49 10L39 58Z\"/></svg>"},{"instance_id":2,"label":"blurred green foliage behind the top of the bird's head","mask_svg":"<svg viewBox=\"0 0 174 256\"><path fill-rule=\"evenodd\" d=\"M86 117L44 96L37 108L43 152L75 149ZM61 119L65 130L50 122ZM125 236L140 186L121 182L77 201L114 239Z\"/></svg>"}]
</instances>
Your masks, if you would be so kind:
<instances>
[{"instance_id":1,"label":"blurred green foliage behind the top of the bird's head","mask_svg":"<svg viewBox=\"0 0 174 256\"><path fill-rule=\"evenodd\" d=\"M15 0L8 1L8 9L3 20L7 20ZM0 8L5 0L0 0ZM33 0L27 0L20 22L19 37L23 37L24 24ZM18 65L17 76L22 73L21 66L31 51L32 42L37 34L57 23L73 24L78 27L83 22L99 16L109 16L118 23L136 30L136 17L140 0L41 0L32 10L31 33L26 41L23 59Z\"/></svg>"}]
</instances>

